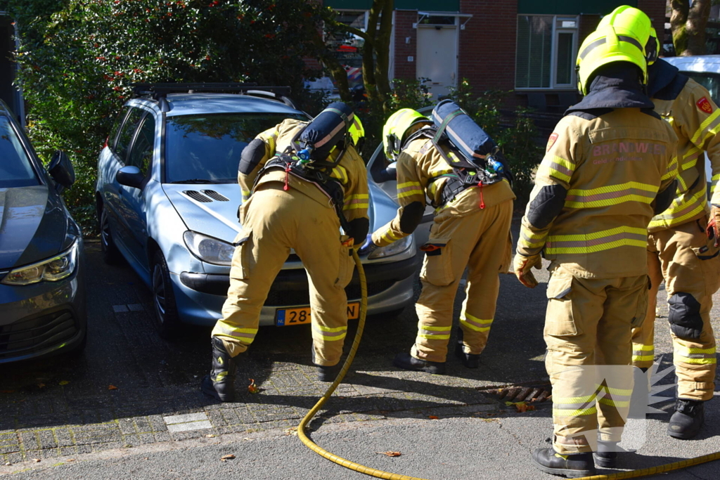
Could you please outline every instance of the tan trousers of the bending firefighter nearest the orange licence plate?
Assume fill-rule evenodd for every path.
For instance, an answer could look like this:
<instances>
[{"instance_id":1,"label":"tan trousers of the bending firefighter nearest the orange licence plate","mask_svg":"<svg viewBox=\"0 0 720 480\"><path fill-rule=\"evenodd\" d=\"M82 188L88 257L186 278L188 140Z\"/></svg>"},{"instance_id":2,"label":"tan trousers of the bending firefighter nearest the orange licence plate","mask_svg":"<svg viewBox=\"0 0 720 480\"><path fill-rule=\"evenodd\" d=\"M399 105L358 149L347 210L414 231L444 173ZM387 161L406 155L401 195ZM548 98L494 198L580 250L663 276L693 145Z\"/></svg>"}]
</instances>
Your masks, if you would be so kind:
<instances>
[{"instance_id":1,"label":"tan trousers of the bending firefighter nearest the orange licence plate","mask_svg":"<svg viewBox=\"0 0 720 480\"><path fill-rule=\"evenodd\" d=\"M354 263L341 243L335 210L272 182L258 186L240 217L243 231L235 239L228 299L212 336L222 339L231 356L247 350L271 284L294 248L310 284L315 363L336 365L348 329L345 287Z\"/></svg>"}]
</instances>

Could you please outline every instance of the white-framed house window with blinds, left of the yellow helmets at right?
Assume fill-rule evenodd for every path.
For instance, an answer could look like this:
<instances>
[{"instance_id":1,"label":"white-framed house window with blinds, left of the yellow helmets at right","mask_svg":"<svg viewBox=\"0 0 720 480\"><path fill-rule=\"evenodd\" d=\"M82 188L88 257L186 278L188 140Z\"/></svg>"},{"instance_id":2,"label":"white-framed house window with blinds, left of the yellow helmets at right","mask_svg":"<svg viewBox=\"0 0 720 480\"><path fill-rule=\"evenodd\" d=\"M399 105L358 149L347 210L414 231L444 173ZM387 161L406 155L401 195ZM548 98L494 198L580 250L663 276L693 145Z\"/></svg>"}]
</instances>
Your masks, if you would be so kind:
<instances>
[{"instance_id":1,"label":"white-framed house window with blinds, left of the yellow helmets at right","mask_svg":"<svg viewBox=\"0 0 720 480\"><path fill-rule=\"evenodd\" d=\"M575 88L577 17L518 15L516 89Z\"/></svg>"}]
</instances>

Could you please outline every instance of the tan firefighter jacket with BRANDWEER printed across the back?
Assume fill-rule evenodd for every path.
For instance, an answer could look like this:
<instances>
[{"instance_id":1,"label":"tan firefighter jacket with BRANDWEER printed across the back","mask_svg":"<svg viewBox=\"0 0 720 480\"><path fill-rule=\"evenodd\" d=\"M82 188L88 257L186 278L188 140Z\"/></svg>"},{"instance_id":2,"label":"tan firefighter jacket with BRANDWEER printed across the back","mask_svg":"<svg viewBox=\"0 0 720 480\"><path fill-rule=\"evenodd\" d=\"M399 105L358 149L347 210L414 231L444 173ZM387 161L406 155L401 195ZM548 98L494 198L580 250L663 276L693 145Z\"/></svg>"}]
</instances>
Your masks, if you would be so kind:
<instances>
[{"instance_id":1,"label":"tan firefighter jacket with BRANDWEER printed across the back","mask_svg":"<svg viewBox=\"0 0 720 480\"><path fill-rule=\"evenodd\" d=\"M675 142L667 122L638 108L561 119L536 173L518 253L544 250L546 258L583 278L647 273L647 225L657 192L677 174ZM541 228L528 213L549 186L562 186L567 195L554 220L536 220Z\"/></svg>"}]
</instances>

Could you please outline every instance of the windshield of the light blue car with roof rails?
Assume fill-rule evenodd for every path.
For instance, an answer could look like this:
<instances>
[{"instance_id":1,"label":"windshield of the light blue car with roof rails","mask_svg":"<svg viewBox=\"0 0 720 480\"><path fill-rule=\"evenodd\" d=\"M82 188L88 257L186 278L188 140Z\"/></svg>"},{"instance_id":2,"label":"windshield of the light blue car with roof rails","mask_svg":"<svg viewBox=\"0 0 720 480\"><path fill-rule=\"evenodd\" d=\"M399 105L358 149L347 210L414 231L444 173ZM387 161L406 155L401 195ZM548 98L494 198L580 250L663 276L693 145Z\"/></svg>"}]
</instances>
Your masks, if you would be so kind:
<instances>
[{"instance_id":1,"label":"windshield of the light blue car with roof rails","mask_svg":"<svg viewBox=\"0 0 720 480\"><path fill-rule=\"evenodd\" d=\"M235 183L240 153L253 138L302 114L199 114L168 117L165 177L168 183Z\"/></svg>"}]
</instances>

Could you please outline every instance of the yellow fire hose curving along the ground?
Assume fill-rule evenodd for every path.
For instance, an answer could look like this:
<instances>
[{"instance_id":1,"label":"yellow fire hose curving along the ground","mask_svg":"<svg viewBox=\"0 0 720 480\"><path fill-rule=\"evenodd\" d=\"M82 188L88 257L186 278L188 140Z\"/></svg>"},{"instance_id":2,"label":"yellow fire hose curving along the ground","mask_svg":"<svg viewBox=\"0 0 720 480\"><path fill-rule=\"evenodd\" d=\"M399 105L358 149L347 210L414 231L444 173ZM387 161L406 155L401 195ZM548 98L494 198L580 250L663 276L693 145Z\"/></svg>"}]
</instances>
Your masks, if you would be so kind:
<instances>
[{"instance_id":1,"label":"yellow fire hose curving along the ground","mask_svg":"<svg viewBox=\"0 0 720 480\"><path fill-rule=\"evenodd\" d=\"M300 421L300 425L297 426L297 436L300 438L300 441L305 444L307 448L310 448L313 452L317 453L319 456L327 458L329 461L333 463L337 463L340 466L343 466L345 468L349 468L351 470L360 472L361 474L366 474L369 476L374 476L378 479L386 479L386 480L426 480L426 479L420 479L415 476L408 476L408 475L400 475L400 474L391 474L388 471L382 471L377 470L377 468L371 468L368 466L360 465L359 463L355 463L354 461L346 460L345 458L338 457L334 453L328 452L328 450L325 450L324 448L318 446L310 440L310 438L305 435L305 427L307 427L307 424L310 423L310 420L312 420L312 417L315 417L315 414L320 411L320 409L323 407L325 402L328 401L328 399L332 396L333 392L336 388L338 388L338 385L343 381L343 378L345 378L345 374L348 373L348 369L350 368L351 364L353 363L353 359L355 358L355 353L358 349L358 346L360 345L360 339L362 338L362 331L365 327L365 315L367 312L367 283L365 279L365 271L362 268L362 263L360 263L360 257L356 253L356 251L353 249L353 259L355 261L355 265L358 268L358 275L360 277L360 292L361 292L361 301L360 301L360 317L358 320L358 330L355 334L355 338L353 340L353 345L350 348L350 352L348 353L348 358L346 359L345 363L343 363L343 368L341 368L340 373L338 373L338 377L333 381L333 384L330 385L330 387L325 391L325 394L323 394L323 397L321 397L318 400L318 403L315 404L312 409L310 409L310 412L307 412L307 415L302 418ZM668 471L673 470L680 470L681 468L688 468L690 466L700 465L701 463L706 463L709 461L714 460L720 460L720 452L711 453L709 455L704 455L697 458L689 458L688 460L681 460L677 461L675 463L667 463L666 465L661 466L653 466L649 468L642 468L641 470L633 470L633 471L623 471L618 472L617 474L610 474L610 475L593 475L593 476L583 476L580 479L576 480L621 480L621 479L636 479L640 476L648 476L648 475L654 475L654 474L664 474Z\"/></svg>"}]
</instances>

